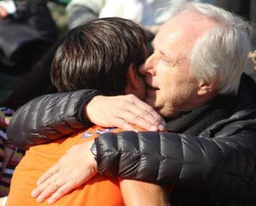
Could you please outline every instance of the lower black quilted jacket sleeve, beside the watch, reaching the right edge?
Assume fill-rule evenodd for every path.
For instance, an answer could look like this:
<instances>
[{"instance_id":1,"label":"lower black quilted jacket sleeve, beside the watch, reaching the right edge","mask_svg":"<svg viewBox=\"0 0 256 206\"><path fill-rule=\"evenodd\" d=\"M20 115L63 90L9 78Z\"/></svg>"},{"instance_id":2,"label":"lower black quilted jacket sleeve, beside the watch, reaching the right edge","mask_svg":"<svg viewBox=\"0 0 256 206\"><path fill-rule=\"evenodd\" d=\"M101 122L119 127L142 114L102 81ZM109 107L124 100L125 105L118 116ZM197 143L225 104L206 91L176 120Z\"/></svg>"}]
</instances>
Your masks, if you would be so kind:
<instances>
[{"instance_id":1,"label":"lower black quilted jacket sleeve, beside the watch, reaching the right edge","mask_svg":"<svg viewBox=\"0 0 256 206\"><path fill-rule=\"evenodd\" d=\"M219 199L251 199L256 191L255 137L250 130L218 138L163 132L104 133L95 140L98 170L105 176L207 191Z\"/></svg>"}]
</instances>

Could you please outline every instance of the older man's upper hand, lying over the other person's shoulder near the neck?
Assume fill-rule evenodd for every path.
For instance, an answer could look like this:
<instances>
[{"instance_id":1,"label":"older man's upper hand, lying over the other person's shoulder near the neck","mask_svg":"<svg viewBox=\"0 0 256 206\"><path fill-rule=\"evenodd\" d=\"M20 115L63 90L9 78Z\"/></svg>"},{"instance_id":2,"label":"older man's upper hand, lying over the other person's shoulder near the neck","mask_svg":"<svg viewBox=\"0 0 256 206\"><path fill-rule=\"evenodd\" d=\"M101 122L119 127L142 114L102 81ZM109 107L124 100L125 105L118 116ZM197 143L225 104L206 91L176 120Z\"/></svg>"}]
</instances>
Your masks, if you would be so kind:
<instances>
[{"instance_id":1,"label":"older man's upper hand, lying over the other person's shoulder near the neck","mask_svg":"<svg viewBox=\"0 0 256 206\"><path fill-rule=\"evenodd\" d=\"M85 107L85 113L102 127L131 130L130 124L146 130L165 130L165 121L155 110L133 94L124 96L96 96Z\"/></svg>"}]
</instances>

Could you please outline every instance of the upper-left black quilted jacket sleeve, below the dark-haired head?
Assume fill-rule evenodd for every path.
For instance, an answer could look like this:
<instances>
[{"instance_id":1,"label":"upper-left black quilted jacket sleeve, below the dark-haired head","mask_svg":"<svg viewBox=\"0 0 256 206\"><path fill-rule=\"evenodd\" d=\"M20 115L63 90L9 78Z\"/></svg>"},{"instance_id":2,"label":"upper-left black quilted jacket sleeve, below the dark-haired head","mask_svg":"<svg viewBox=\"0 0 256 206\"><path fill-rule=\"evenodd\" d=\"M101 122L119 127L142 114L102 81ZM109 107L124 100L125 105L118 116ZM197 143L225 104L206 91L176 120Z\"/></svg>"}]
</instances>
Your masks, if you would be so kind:
<instances>
[{"instance_id":1,"label":"upper-left black quilted jacket sleeve, below the dark-haired head","mask_svg":"<svg viewBox=\"0 0 256 206\"><path fill-rule=\"evenodd\" d=\"M7 138L16 146L28 148L65 137L90 125L84 119L84 105L96 90L46 94L19 108L7 127Z\"/></svg>"}]
</instances>

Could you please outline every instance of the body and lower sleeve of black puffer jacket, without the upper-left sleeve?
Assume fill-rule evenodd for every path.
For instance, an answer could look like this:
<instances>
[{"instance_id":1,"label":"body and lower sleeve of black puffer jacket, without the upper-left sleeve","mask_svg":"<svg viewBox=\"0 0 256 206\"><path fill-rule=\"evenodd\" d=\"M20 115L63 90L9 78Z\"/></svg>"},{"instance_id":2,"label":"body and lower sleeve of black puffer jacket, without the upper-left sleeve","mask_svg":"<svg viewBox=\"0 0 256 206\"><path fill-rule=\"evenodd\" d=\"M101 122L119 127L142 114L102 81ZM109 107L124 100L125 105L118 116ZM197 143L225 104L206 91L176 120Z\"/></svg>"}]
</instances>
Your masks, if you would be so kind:
<instances>
[{"instance_id":1,"label":"body and lower sleeve of black puffer jacket, without the upper-left sleeve","mask_svg":"<svg viewBox=\"0 0 256 206\"><path fill-rule=\"evenodd\" d=\"M102 134L95 140L99 172L171 184L174 206L255 206L256 87L246 81L235 113L198 137L164 132Z\"/></svg>"}]
</instances>

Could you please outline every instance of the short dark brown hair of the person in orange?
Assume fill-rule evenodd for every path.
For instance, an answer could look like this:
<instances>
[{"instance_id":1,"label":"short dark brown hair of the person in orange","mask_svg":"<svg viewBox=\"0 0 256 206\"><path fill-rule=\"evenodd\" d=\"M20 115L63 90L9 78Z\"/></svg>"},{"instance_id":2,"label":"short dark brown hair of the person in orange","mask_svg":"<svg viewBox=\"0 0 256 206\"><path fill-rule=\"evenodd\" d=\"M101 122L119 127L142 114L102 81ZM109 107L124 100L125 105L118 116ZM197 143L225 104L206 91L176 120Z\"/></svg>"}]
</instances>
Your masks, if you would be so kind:
<instances>
[{"instance_id":1,"label":"short dark brown hair of the person in orange","mask_svg":"<svg viewBox=\"0 0 256 206\"><path fill-rule=\"evenodd\" d=\"M51 68L59 91L91 88L105 95L123 94L130 63L144 62L144 32L123 18L102 18L70 30Z\"/></svg>"}]
</instances>

